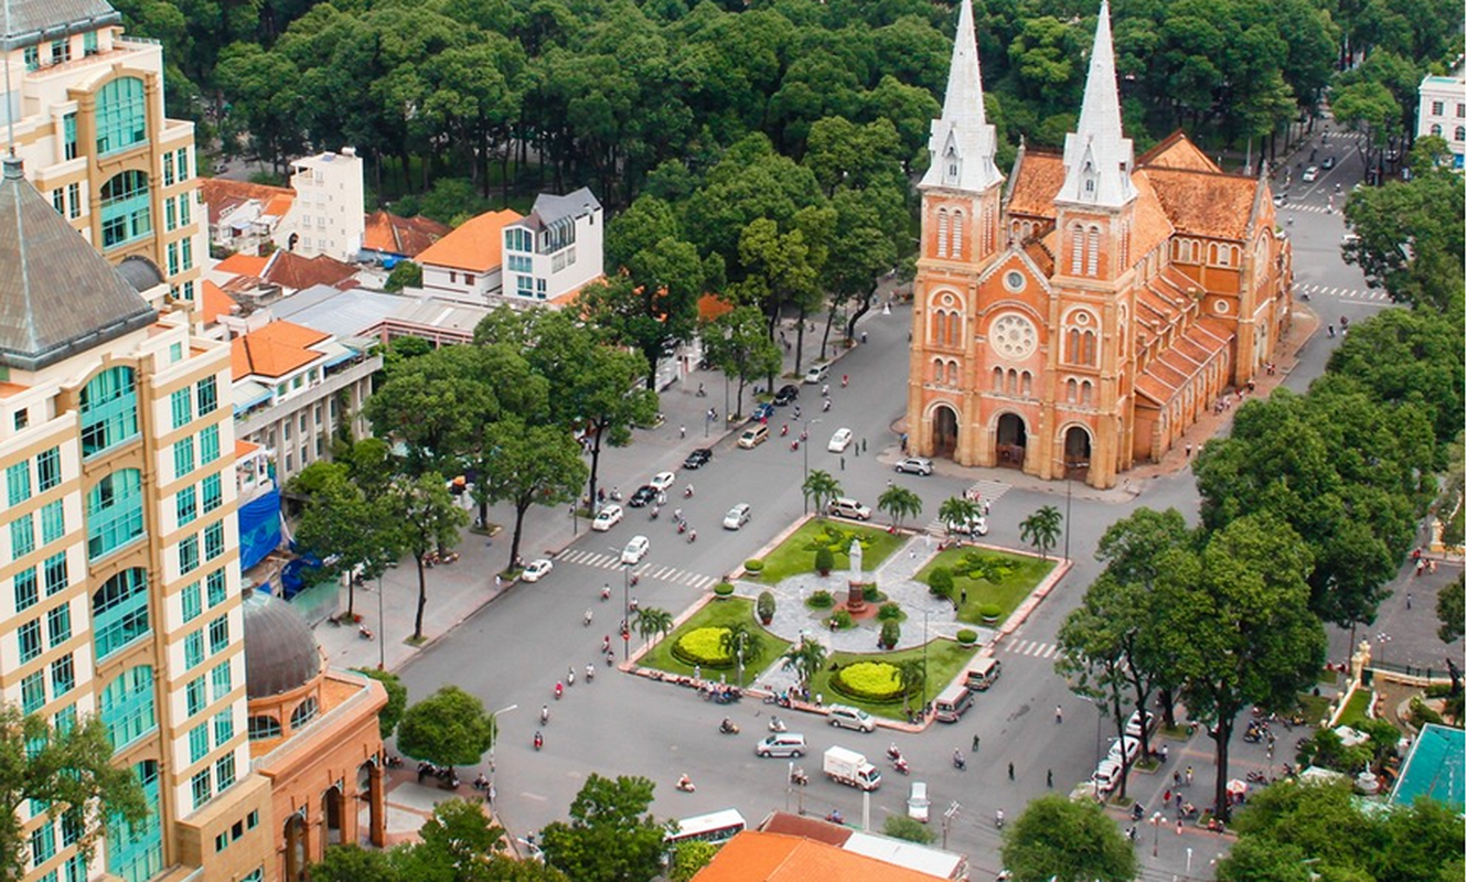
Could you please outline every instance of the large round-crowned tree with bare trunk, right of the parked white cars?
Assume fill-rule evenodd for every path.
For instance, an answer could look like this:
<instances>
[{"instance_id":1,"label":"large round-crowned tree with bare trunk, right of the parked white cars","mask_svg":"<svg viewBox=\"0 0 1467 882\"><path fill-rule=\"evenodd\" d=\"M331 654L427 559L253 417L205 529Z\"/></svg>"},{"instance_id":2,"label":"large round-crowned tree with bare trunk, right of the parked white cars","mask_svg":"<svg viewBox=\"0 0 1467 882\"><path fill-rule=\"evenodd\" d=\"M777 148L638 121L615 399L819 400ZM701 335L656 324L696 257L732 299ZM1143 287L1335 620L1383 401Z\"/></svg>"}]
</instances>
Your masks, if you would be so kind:
<instances>
[{"instance_id":1,"label":"large round-crowned tree with bare trunk, right of the parked white cars","mask_svg":"<svg viewBox=\"0 0 1467 882\"><path fill-rule=\"evenodd\" d=\"M1228 744L1250 705L1288 711L1325 662L1325 630L1309 609L1309 548L1287 523L1247 516L1213 533L1200 554L1162 560L1156 602L1165 648L1182 677L1188 715L1210 724L1218 778L1213 809L1226 819Z\"/></svg>"}]
</instances>

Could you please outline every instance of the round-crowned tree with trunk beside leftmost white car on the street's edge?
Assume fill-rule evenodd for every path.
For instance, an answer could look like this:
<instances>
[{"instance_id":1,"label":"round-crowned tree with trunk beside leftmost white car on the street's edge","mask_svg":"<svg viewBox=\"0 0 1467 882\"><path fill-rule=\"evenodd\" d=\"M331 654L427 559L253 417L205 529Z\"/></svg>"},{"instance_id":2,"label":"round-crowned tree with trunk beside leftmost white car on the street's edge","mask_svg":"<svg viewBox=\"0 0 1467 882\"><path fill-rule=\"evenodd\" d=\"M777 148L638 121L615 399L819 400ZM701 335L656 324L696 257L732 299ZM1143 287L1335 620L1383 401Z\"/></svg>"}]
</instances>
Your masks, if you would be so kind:
<instances>
[{"instance_id":1,"label":"round-crowned tree with trunk beside leftmost white car on the street's edge","mask_svg":"<svg viewBox=\"0 0 1467 882\"><path fill-rule=\"evenodd\" d=\"M519 418L506 418L490 426L487 437L487 472L480 481L490 500L508 500L515 507L509 561L516 566L525 511L535 504L560 505L574 500L588 469L581 462L581 447L560 426L525 425Z\"/></svg>"}]
</instances>

